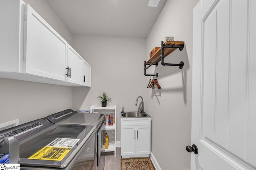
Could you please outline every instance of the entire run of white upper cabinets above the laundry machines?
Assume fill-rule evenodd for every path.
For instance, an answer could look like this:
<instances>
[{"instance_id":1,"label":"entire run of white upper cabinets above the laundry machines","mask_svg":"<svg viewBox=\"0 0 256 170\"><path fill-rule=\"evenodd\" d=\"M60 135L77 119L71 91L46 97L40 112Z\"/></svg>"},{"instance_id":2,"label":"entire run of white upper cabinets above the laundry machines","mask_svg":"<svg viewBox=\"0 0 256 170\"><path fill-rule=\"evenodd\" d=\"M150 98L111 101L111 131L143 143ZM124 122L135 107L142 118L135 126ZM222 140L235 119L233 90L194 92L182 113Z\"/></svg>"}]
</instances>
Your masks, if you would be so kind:
<instances>
[{"instance_id":1,"label":"entire run of white upper cabinets above the laundry machines","mask_svg":"<svg viewBox=\"0 0 256 170\"><path fill-rule=\"evenodd\" d=\"M0 77L90 86L84 59L28 4L0 0L0 12Z\"/></svg>"}]
</instances>

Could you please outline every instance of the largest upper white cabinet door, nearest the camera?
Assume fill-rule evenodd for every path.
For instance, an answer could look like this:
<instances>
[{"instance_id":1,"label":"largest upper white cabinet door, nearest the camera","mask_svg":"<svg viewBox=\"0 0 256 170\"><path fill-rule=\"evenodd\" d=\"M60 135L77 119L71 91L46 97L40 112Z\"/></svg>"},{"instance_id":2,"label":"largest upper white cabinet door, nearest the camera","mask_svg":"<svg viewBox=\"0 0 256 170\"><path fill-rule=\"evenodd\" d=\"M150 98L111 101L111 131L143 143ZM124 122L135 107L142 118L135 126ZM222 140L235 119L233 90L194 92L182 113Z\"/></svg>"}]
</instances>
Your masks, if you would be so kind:
<instances>
[{"instance_id":1,"label":"largest upper white cabinet door, nearest the camera","mask_svg":"<svg viewBox=\"0 0 256 170\"><path fill-rule=\"evenodd\" d=\"M23 72L65 81L68 43L28 4L24 20Z\"/></svg>"}]
</instances>

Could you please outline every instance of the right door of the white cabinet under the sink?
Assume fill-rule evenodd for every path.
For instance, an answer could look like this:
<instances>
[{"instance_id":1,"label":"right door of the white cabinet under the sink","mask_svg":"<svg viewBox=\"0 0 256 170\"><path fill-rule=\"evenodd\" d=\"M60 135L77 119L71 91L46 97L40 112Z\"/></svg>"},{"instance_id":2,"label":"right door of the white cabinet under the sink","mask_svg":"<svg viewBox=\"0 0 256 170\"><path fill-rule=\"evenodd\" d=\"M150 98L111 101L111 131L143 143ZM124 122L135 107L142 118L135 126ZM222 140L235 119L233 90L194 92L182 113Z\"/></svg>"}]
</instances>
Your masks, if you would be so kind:
<instances>
[{"instance_id":1,"label":"right door of the white cabinet under the sink","mask_svg":"<svg viewBox=\"0 0 256 170\"><path fill-rule=\"evenodd\" d=\"M150 126L136 126L136 154L150 154Z\"/></svg>"}]
</instances>

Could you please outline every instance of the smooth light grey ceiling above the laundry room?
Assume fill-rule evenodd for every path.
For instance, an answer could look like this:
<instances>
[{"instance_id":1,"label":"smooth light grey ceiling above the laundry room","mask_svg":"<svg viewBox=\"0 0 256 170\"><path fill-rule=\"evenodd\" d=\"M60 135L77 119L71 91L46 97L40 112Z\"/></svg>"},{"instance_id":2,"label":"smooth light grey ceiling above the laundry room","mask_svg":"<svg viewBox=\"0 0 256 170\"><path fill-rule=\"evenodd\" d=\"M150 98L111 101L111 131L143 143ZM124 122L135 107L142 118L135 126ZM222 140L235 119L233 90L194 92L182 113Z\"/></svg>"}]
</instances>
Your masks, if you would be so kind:
<instances>
[{"instance_id":1,"label":"smooth light grey ceiling above the laundry room","mask_svg":"<svg viewBox=\"0 0 256 170\"><path fill-rule=\"evenodd\" d=\"M47 0L75 35L146 38L166 0Z\"/></svg>"}]
</instances>

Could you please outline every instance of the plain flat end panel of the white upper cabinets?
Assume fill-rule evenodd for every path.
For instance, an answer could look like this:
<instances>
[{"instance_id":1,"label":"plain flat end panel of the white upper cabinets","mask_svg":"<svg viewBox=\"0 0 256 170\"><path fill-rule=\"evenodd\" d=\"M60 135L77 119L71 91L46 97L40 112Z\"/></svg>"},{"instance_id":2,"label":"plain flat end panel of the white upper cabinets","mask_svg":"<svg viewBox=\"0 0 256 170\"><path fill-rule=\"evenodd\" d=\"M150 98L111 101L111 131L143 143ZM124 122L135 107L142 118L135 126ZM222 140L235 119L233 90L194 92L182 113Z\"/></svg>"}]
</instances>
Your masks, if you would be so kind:
<instances>
[{"instance_id":1,"label":"plain flat end panel of the white upper cabinets","mask_svg":"<svg viewBox=\"0 0 256 170\"><path fill-rule=\"evenodd\" d=\"M22 72L24 6L23 1L0 0L0 73Z\"/></svg>"}]
</instances>

